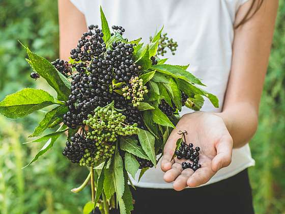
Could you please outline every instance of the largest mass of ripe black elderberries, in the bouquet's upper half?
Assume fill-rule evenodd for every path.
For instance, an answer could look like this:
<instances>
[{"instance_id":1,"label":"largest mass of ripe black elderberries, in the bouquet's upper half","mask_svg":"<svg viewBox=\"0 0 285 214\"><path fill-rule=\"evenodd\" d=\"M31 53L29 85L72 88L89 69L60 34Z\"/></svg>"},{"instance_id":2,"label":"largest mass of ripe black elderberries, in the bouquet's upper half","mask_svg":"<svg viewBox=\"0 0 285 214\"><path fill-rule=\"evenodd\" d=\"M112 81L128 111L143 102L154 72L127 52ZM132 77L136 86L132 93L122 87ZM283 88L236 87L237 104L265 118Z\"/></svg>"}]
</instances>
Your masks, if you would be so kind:
<instances>
[{"instance_id":1,"label":"largest mass of ripe black elderberries, in the bouquet's upper half","mask_svg":"<svg viewBox=\"0 0 285 214\"><path fill-rule=\"evenodd\" d=\"M116 26L115 30L125 31L121 26ZM69 112L63 121L71 128L81 126L83 119L87 119L97 106L105 106L112 100L118 109L131 105L131 101L122 102L124 97L113 92L111 84L112 79L128 83L131 77L138 75L141 66L132 60L133 45L113 42L111 49L106 50L102 37L98 26L90 25L89 31L83 33L77 47L70 52L77 73L72 75L71 95L67 101ZM133 121L139 124L141 119L138 115Z\"/></svg>"}]
</instances>

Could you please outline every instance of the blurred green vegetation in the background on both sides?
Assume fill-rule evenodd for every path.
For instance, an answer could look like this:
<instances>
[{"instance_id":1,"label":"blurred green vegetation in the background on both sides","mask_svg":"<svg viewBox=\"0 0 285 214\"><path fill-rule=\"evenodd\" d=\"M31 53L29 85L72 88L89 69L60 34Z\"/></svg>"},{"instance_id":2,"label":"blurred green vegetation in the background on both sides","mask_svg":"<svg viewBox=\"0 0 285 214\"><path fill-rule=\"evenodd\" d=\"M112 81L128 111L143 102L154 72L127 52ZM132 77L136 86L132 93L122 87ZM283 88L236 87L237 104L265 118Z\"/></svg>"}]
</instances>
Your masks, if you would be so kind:
<instances>
[{"instance_id":1,"label":"blurred green vegetation in the background on both sides","mask_svg":"<svg viewBox=\"0 0 285 214\"><path fill-rule=\"evenodd\" d=\"M279 5L259 129L250 143L257 162L249 172L258 214L285 213L285 2L279 1ZM24 60L25 52L17 40L54 60L58 57L59 32L55 1L2 0L0 8L1 100L23 87L35 86L29 77L31 69ZM44 88L41 79L37 86ZM17 120L0 116L1 214L80 213L90 197L89 190L80 195L70 192L84 180L87 170L66 161L61 154L63 139L37 164L21 170L42 146L21 144L42 117L42 113Z\"/></svg>"}]
</instances>

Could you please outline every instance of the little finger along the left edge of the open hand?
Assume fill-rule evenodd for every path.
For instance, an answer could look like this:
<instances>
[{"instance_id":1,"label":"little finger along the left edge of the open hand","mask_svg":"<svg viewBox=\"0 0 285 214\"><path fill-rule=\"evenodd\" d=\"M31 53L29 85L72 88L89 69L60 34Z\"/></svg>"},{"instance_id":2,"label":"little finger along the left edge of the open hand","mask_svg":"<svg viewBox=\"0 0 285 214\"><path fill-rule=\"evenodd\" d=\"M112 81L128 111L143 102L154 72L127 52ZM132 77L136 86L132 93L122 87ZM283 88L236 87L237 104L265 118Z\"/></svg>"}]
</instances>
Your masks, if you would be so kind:
<instances>
[{"instance_id":1,"label":"little finger along the left edge of the open hand","mask_svg":"<svg viewBox=\"0 0 285 214\"><path fill-rule=\"evenodd\" d=\"M171 160L176 149L177 139L179 139L179 136L176 134L176 129L174 129L168 137L163 149L163 156L160 165L163 172L170 170L172 167Z\"/></svg>"}]
</instances>

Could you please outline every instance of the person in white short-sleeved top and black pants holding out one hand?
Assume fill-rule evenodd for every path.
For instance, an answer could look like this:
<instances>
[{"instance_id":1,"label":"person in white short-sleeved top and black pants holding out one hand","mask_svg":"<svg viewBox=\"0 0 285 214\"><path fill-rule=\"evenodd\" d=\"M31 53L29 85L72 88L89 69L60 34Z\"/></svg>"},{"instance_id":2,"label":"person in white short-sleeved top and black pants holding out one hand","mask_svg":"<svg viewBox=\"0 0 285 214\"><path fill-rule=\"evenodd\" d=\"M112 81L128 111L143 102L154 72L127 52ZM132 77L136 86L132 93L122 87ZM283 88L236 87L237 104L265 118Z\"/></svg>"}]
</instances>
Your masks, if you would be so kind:
<instances>
[{"instance_id":1,"label":"person in white short-sleeved top and black pants holding out one hand","mask_svg":"<svg viewBox=\"0 0 285 214\"><path fill-rule=\"evenodd\" d=\"M278 1L60 0L61 58L67 60L87 25L100 23L100 5L109 25L123 25L129 39L148 41L164 25L179 44L168 62L190 63L220 103L218 109L206 100L201 112L182 110L159 163L165 174L152 168L133 181L134 213L253 213L248 142L258 125ZM195 172L171 161L178 130L201 147L202 168Z\"/></svg>"}]
</instances>

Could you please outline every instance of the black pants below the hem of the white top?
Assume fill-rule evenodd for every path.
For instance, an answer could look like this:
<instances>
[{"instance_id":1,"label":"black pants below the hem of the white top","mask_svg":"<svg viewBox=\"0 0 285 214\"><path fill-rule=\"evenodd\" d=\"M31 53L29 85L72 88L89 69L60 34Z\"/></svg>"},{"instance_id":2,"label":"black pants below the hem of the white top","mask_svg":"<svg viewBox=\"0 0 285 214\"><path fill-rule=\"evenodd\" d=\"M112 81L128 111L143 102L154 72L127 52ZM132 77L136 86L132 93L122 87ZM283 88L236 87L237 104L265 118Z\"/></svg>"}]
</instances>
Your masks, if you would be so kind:
<instances>
[{"instance_id":1,"label":"black pants below the hem of the white top","mask_svg":"<svg viewBox=\"0 0 285 214\"><path fill-rule=\"evenodd\" d=\"M181 192L171 189L137 188L132 194L135 200L132 211L134 214L254 213L247 170L201 188L185 189Z\"/></svg>"}]
</instances>

